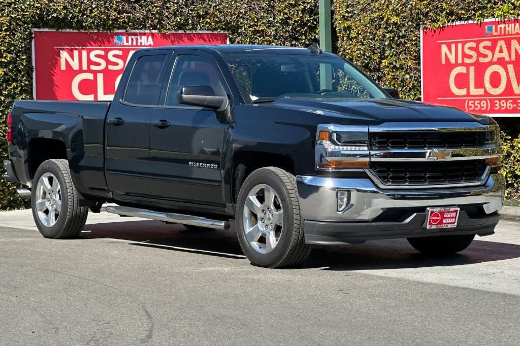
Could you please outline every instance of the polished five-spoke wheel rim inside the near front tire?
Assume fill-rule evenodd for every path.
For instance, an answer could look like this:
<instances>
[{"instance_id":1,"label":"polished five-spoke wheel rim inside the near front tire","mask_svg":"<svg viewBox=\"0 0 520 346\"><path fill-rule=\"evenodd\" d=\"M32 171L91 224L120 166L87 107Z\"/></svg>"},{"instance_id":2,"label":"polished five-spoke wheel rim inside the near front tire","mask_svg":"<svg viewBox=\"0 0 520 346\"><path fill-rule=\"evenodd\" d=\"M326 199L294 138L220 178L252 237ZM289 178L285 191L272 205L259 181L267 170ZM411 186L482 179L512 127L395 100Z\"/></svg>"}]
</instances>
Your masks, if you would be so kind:
<instances>
[{"instance_id":1,"label":"polished five-spoke wheel rim inside the near front tire","mask_svg":"<svg viewBox=\"0 0 520 346\"><path fill-rule=\"evenodd\" d=\"M246 241L261 254L278 245L283 230L283 208L269 185L256 185L245 198L243 230Z\"/></svg>"}]
</instances>

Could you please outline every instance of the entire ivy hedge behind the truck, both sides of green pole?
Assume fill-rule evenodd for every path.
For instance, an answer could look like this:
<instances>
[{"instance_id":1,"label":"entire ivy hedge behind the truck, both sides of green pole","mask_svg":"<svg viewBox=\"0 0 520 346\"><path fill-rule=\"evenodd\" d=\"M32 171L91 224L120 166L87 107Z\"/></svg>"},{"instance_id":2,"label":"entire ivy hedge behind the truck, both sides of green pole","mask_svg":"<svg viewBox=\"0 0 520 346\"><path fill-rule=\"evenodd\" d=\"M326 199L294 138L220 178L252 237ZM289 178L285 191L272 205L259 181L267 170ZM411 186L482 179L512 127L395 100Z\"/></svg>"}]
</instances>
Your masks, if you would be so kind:
<instances>
[{"instance_id":1,"label":"entire ivy hedge behind the truck, both sides of green pole","mask_svg":"<svg viewBox=\"0 0 520 346\"><path fill-rule=\"evenodd\" d=\"M333 0L332 7L334 51L409 99L420 97L422 26L520 17L520 0ZM32 96L31 28L211 30L228 32L231 43L305 46L317 37L317 21L317 0L2 0L0 160L7 156L5 116L12 101ZM514 119L501 119L500 125L508 133L503 140L510 153L508 148L518 148L520 130ZM520 159L508 155L508 195L517 196ZM0 210L27 206L14 188L0 182Z\"/></svg>"}]
</instances>

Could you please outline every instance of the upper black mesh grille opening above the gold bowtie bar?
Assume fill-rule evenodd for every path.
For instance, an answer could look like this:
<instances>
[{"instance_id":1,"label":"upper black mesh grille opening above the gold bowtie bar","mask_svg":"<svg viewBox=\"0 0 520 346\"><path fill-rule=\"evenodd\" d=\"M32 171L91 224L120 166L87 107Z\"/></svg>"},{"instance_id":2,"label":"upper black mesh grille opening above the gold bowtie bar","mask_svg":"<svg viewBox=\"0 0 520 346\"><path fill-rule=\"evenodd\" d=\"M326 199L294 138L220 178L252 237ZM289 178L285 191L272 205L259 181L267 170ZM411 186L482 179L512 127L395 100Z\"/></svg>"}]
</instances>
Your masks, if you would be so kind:
<instances>
[{"instance_id":1,"label":"upper black mesh grille opening above the gold bowtie bar","mask_svg":"<svg viewBox=\"0 0 520 346\"><path fill-rule=\"evenodd\" d=\"M496 141L494 131L425 131L370 133L371 150L477 148Z\"/></svg>"}]
</instances>

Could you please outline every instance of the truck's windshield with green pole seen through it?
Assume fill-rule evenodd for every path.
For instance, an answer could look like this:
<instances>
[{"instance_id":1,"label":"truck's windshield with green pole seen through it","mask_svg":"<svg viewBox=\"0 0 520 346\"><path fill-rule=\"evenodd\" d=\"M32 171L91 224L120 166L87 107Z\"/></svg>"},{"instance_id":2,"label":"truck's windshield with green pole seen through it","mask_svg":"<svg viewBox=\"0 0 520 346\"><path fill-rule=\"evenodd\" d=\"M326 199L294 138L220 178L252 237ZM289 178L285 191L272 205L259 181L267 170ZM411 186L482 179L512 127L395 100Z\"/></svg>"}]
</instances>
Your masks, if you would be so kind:
<instances>
[{"instance_id":1,"label":"truck's windshield with green pole seen through it","mask_svg":"<svg viewBox=\"0 0 520 346\"><path fill-rule=\"evenodd\" d=\"M387 98L384 92L339 57L306 55L224 56L244 98Z\"/></svg>"}]
</instances>

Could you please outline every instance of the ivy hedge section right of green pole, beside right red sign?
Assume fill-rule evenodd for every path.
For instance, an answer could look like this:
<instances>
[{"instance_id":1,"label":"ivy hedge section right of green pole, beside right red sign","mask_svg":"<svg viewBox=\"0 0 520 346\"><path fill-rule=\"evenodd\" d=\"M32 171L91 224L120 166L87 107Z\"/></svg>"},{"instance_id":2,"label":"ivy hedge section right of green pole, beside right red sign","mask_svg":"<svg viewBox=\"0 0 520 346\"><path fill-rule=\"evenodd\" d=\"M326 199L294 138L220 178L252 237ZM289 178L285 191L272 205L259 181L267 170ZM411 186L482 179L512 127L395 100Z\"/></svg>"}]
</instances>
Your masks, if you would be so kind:
<instances>
[{"instance_id":1,"label":"ivy hedge section right of green pole, beside right red sign","mask_svg":"<svg viewBox=\"0 0 520 346\"><path fill-rule=\"evenodd\" d=\"M332 8L337 54L412 100L421 98L422 28L520 17L520 0L337 0Z\"/></svg>"}]
</instances>

